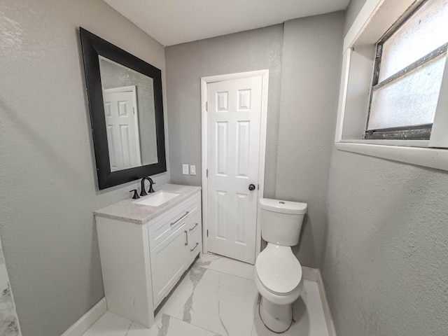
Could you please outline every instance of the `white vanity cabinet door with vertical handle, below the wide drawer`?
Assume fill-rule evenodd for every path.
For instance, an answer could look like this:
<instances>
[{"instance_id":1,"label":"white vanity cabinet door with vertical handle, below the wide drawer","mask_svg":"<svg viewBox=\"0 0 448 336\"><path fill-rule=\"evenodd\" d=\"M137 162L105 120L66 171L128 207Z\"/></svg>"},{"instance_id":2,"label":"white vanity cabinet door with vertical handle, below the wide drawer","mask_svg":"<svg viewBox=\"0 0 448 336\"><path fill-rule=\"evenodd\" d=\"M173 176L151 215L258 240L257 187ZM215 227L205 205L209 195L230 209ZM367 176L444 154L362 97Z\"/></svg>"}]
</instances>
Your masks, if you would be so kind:
<instances>
[{"instance_id":1,"label":"white vanity cabinet door with vertical handle, below the wide drawer","mask_svg":"<svg viewBox=\"0 0 448 336\"><path fill-rule=\"evenodd\" d=\"M184 224L151 251L154 308L187 269L187 234Z\"/></svg>"}]
</instances>

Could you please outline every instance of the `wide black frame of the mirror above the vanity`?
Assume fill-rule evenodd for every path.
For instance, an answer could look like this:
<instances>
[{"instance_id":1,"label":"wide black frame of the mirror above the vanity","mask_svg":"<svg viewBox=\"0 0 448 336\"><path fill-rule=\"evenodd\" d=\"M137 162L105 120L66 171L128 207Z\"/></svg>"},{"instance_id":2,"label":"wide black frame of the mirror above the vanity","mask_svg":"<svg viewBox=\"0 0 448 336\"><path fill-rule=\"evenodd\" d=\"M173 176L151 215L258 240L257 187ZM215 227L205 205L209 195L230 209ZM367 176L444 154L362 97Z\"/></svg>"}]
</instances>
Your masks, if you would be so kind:
<instances>
[{"instance_id":1,"label":"wide black frame of the mirror above the vanity","mask_svg":"<svg viewBox=\"0 0 448 336\"><path fill-rule=\"evenodd\" d=\"M165 158L165 131L162 105L162 72L155 66L144 62L138 57L131 55L129 52L118 48L116 45L90 33L90 31L81 27L79 30L83 48L85 81L90 108L90 120L92 123L99 189L118 186L119 184L141 179L145 176L166 172L167 162ZM153 78L155 131L158 152L157 163L111 172L106 134L106 119L104 117L102 83L99 73L99 55Z\"/></svg>"}]
</instances>

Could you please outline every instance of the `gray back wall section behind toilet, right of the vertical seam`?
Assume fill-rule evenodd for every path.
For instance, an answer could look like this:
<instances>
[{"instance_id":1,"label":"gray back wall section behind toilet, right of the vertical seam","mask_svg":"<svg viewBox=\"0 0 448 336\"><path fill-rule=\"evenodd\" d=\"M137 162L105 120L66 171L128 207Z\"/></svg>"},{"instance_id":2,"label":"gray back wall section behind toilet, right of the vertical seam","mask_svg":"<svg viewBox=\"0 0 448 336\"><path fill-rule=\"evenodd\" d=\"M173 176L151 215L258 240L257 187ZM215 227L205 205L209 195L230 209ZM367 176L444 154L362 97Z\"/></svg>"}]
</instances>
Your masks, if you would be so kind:
<instances>
[{"instance_id":1,"label":"gray back wall section behind toilet, right of the vertical seam","mask_svg":"<svg viewBox=\"0 0 448 336\"><path fill-rule=\"evenodd\" d=\"M300 244L302 265L320 267L328 169L335 133L344 12L285 23L277 199L308 204Z\"/></svg>"}]
</instances>

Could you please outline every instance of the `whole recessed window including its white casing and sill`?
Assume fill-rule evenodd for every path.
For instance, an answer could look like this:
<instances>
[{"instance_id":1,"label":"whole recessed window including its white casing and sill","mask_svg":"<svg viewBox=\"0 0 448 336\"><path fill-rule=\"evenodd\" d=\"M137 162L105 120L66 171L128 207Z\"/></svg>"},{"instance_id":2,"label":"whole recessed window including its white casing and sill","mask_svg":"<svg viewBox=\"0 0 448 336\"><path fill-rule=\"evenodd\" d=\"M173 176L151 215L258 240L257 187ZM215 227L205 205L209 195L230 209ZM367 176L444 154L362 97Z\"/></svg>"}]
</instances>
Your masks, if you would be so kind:
<instances>
[{"instance_id":1,"label":"whole recessed window including its white casing and sill","mask_svg":"<svg viewBox=\"0 0 448 336\"><path fill-rule=\"evenodd\" d=\"M337 149L448 170L448 0L366 0L344 38Z\"/></svg>"}]
</instances>

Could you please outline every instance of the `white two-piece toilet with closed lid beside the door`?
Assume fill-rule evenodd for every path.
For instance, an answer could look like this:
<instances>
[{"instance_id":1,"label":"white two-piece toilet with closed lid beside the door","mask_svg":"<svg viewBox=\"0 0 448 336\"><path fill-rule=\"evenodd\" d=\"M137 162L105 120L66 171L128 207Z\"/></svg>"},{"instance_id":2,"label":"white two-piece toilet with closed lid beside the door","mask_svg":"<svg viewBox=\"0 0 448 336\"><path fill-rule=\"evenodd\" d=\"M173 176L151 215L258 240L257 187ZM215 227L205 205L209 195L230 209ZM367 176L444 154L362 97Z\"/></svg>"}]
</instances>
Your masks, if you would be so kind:
<instances>
[{"instance_id":1,"label":"white two-piece toilet with closed lid beside the door","mask_svg":"<svg viewBox=\"0 0 448 336\"><path fill-rule=\"evenodd\" d=\"M260 223L266 248L255 260L255 286L261 295L260 318L274 332L285 332L293 323L293 302L303 287L302 266L291 246L299 242L307 204L260 200Z\"/></svg>"}]
</instances>

